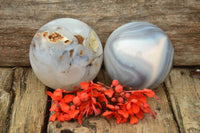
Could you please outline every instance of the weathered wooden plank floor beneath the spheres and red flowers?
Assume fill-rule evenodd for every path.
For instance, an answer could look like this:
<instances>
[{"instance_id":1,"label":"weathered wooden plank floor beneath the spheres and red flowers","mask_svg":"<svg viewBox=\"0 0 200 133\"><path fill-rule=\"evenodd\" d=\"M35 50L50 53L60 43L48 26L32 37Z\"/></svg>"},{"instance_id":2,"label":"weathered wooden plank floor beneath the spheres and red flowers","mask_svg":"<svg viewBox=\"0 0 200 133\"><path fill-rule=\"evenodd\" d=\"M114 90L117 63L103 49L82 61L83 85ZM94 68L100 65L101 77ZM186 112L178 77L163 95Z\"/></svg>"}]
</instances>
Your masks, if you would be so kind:
<instances>
[{"instance_id":1,"label":"weathered wooden plank floor beneath the spheres and red flowers","mask_svg":"<svg viewBox=\"0 0 200 133\"><path fill-rule=\"evenodd\" d=\"M146 114L138 124L116 124L114 119L90 117L78 122L44 122L49 115L46 87L30 68L0 68L0 132L2 133L199 133L200 76L191 78L191 68L173 68L165 82L155 89L161 103L149 99L157 112ZM200 74L199 74L200 75ZM105 70L95 81L110 84ZM47 117L48 118L48 117ZM47 127L47 129L45 129Z\"/></svg>"}]
</instances>

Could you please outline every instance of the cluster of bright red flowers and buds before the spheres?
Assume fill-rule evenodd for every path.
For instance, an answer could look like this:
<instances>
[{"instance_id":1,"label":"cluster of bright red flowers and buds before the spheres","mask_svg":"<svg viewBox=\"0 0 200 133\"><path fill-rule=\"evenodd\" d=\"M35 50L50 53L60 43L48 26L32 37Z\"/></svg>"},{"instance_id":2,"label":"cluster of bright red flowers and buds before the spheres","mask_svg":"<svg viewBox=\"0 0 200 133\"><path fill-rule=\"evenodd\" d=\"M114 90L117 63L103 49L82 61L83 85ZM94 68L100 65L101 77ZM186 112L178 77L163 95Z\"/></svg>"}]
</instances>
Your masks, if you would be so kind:
<instances>
[{"instance_id":1,"label":"cluster of bright red flowers and buds before the spheres","mask_svg":"<svg viewBox=\"0 0 200 133\"><path fill-rule=\"evenodd\" d=\"M53 100L49 121L78 120L82 124L82 118L93 114L110 119L115 117L117 123L130 120L131 124L138 123L144 117L144 113L154 112L147 103L147 97L160 99L150 89L126 91L118 80L113 80L111 86L103 83L81 82L80 88L74 87L74 91L56 89L53 93L47 91ZM130 89L130 87L128 88ZM147 97L146 97L147 96Z\"/></svg>"}]
</instances>

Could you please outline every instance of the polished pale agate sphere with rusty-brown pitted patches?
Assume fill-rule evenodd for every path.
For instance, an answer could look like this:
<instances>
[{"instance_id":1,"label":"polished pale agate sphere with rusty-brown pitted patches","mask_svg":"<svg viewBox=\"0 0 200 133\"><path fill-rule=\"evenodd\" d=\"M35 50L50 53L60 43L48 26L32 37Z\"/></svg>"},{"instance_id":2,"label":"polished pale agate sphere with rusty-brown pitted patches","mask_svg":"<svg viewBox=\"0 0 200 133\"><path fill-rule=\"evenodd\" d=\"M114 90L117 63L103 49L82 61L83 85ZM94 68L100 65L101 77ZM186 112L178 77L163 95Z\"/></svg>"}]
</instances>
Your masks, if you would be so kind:
<instances>
[{"instance_id":1,"label":"polished pale agate sphere with rusty-brown pitted patches","mask_svg":"<svg viewBox=\"0 0 200 133\"><path fill-rule=\"evenodd\" d=\"M39 80L53 89L71 90L98 74L103 49L85 23L61 18L42 26L30 45L30 63Z\"/></svg>"}]
</instances>

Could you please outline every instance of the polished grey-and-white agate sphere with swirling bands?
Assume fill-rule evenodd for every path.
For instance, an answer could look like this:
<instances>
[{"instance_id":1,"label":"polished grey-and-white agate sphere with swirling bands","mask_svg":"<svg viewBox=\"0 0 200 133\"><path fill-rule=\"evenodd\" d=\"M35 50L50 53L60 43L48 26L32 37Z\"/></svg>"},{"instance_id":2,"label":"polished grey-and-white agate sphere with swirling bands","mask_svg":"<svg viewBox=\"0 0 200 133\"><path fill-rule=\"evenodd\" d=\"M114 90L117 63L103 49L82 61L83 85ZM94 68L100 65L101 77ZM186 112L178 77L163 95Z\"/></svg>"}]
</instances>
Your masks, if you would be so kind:
<instances>
[{"instance_id":1,"label":"polished grey-and-white agate sphere with swirling bands","mask_svg":"<svg viewBox=\"0 0 200 133\"><path fill-rule=\"evenodd\" d=\"M174 48L167 35L147 22L116 29L104 49L108 75L135 89L155 88L168 75Z\"/></svg>"}]
</instances>

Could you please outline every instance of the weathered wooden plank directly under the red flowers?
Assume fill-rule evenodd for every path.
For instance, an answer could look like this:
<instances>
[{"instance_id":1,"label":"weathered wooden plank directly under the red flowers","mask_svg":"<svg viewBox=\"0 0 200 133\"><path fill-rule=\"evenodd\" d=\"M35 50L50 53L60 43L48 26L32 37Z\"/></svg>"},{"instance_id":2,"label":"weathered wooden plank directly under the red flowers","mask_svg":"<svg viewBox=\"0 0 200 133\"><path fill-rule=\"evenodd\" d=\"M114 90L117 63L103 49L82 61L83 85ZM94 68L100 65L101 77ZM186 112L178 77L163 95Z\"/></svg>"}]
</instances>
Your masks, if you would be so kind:
<instances>
[{"instance_id":1,"label":"weathered wooden plank directly under the red flowers","mask_svg":"<svg viewBox=\"0 0 200 133\"><path fill-rule=\"evenodd\" d=\"M105 80L106 79L106 80ZM110 84L106 72L101 70L97 79L98 81ZM149 99L152 109L157 109L157 119L153 120L150 114L136 125L129 123L116 124L114 119L106 120L102 117L91 117L83 121L82 125L78 122L49 122L48 133L178 133L176 122L170 110L168 100L164 91L164 86L159 86L156 94L162 100L158 104L155 99Z\"/></svg>"}]
</instances>

